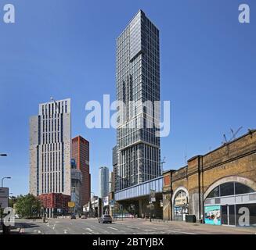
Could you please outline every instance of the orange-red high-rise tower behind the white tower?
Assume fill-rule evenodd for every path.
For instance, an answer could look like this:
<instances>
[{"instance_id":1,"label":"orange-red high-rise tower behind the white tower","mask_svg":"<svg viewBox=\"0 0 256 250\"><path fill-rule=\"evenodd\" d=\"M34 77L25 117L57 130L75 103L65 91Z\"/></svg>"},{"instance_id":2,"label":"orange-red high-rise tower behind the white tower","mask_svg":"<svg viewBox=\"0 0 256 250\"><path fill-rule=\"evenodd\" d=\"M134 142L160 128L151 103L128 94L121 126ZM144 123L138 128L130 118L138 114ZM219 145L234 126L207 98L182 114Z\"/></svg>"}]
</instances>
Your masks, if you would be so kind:
<instances>
[{"instance_id":1,"label":"orange-red high-rise tower behind the white tower","mask_svg":"<svg viewBox=\"0 0 256 250\"><path fill-rule=\"evenodd\" d=\"M81 170L81 205L89 202L91 196L91 175L89 159L90 145L85 138L78 136L72 139L72 159L75 159L78 170Z\"/></svg>"}]
</instances>

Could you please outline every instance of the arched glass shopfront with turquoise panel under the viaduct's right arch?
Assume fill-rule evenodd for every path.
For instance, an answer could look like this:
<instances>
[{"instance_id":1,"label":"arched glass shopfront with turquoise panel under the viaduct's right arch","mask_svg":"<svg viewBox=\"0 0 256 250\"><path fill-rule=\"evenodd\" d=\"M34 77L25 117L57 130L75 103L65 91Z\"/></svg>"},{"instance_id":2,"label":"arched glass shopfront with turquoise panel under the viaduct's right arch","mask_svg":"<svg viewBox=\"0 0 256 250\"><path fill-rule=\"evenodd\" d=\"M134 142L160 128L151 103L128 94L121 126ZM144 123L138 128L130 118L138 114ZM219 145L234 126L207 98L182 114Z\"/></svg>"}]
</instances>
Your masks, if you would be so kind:
<instances>
[{"instance_id":1,"label":"arched glass shopfront with turquoise panel under the viaduct's right arch","mask_svg":"<svg viewBox=\"0 0 256 250\"><path fill-rule=\"evenodd\" d=\"M256 191L238 182L218 185L204 201L204 222L212 225L256 227Z\"/></svg>"}]
</instances>

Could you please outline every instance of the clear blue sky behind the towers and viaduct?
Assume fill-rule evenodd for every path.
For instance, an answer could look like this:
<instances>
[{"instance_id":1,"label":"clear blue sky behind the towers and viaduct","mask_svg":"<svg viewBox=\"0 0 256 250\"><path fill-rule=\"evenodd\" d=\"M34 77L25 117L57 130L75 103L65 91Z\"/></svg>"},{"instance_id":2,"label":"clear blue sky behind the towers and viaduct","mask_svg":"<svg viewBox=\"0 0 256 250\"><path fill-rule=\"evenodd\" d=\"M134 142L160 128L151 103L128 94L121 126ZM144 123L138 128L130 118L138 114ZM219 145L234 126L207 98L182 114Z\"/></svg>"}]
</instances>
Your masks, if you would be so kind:
<instances>
[{"instance_id":1,"label":"clear blue sky behind the towers and viaduct","mask_svg":"<svg viewBox=\"0 0 256 250\"><path fill-rule=\"evenodd\" d=\"M2 6L16 6L16 23ZM238 5L251 23L238 22ZM28 192L29 116L38 103L72 99L72 136L91 143L92 191L99 166L112 169L115 130L88 130L85 103L115 98L115 39L143 9L160 29L161 98L171 101L164 169L221 145L229 128L256 127L256 2L251 0L0 0L0 177Z\"/></svg>"}]
</instances>

